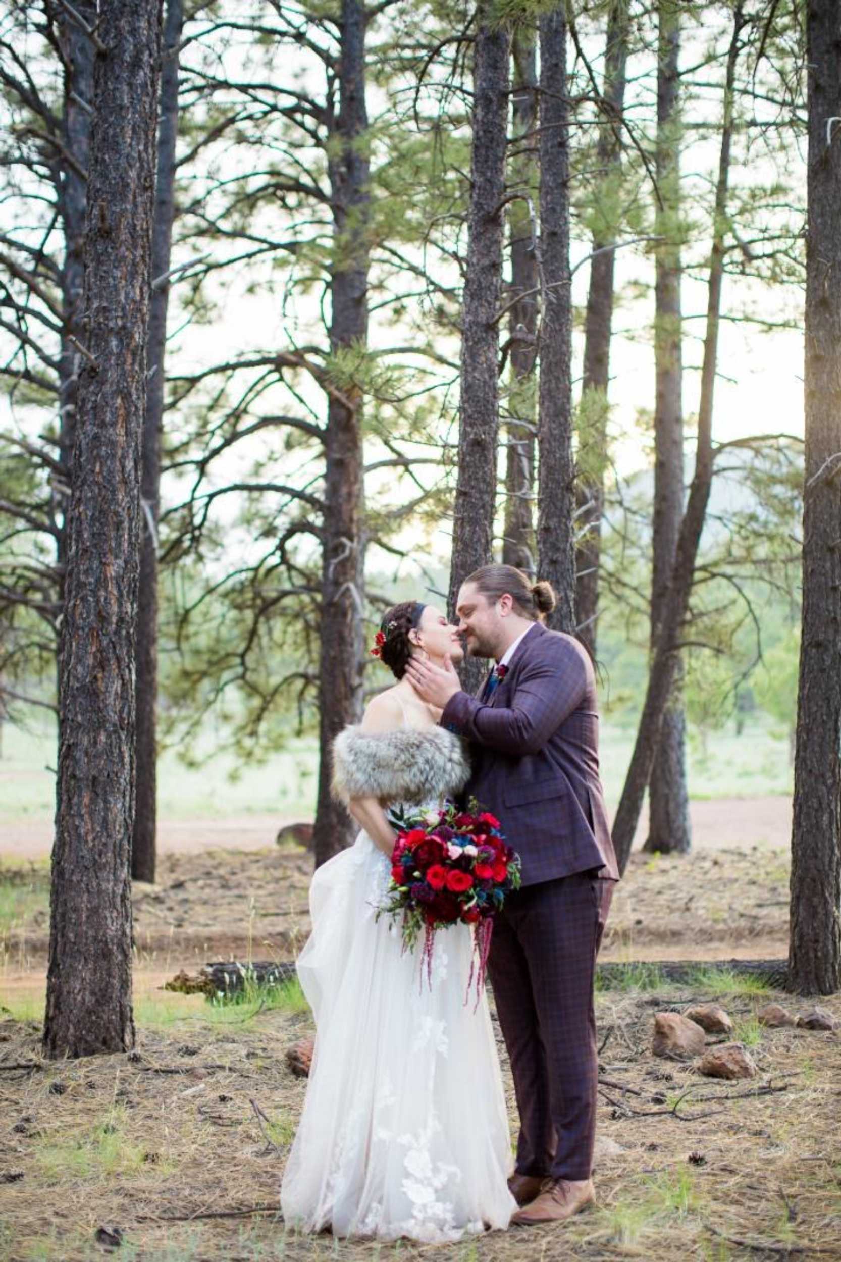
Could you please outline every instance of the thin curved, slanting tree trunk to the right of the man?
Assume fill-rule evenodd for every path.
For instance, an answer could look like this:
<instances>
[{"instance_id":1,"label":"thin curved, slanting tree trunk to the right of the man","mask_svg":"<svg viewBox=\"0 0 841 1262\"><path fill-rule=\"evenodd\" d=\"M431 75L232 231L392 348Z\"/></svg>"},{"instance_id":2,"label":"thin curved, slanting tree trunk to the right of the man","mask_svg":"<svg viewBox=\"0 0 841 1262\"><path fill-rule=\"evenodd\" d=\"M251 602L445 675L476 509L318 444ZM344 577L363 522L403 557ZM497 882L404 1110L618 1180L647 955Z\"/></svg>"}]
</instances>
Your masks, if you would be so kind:
<instances>
[{"instance_id":1,"label":"thin curved, slanting tree trunk to the right of the man","mask_svg":"<svg viewBox=\"0 0 841 1262\"><path fill-rule=\"evenodd\" d=\"M636 742L614 820L612 838L620 872L624 872L628 866L643 799L645 798L645 786L654 765L663 714L672 695L674 676L678 669L681 632L689 607L695 564L701 545L701 534L703 531L712 483L712 404L719 353L727 180L730 177L730 146L732 141L732 86L739 57L739 33L744 23L741 4L739 4L734 11L734 32L727 52L725 76L724 120L713 207L712 250L710 254L710 281L707 286L707 323L703 339L703 366L701 370L698 445L695 458L695 476L689 487L686 512L681 522L672 582L660 612L657 647L652 655L645 703L636 731Z\"/></svg>"}]
</instances>

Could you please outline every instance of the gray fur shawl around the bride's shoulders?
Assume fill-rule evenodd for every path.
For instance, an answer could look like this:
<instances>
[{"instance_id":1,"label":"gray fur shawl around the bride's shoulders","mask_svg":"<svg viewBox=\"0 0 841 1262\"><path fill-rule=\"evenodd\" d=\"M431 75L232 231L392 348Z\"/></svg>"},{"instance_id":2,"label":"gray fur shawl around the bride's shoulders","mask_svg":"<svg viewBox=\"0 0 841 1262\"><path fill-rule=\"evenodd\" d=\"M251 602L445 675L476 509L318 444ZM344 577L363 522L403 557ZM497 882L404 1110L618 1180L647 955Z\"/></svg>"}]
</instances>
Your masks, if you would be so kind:
<instances>
[{"instance_id":1,"label":"gray fur shawl around the bride's shoulders","mask_svg":"<svg viewBox=\"0 0 841 1262\"><path fill-rule=\"evenodd\" d=\"M470 775L465 747L443 727L362 732L346 727L333 742L333 794L427 803L463 789Z\"/></svg>"}]
</instances>

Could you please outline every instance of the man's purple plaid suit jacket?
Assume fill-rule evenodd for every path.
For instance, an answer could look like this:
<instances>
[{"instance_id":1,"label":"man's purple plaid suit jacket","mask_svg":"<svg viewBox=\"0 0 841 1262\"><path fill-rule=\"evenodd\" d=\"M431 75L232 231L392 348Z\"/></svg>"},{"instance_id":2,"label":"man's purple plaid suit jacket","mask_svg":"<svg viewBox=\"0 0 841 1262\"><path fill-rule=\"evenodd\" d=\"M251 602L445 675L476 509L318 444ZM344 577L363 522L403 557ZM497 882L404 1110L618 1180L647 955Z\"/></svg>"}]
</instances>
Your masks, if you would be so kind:
<instances>
[{"instance_id":1,"label":"man's purple plaid suit jacket","mask_svg":"<svg viewBox=\"0 0 841 1262\"><path fill-rule=\"evenodd\" d=\"M592 664L577 640L537 622L486 699L456 693L441 723L471 743L475 796L523 861L523 885L600 870L619 880L599 779Z\"/></svg>"}]
</instances>

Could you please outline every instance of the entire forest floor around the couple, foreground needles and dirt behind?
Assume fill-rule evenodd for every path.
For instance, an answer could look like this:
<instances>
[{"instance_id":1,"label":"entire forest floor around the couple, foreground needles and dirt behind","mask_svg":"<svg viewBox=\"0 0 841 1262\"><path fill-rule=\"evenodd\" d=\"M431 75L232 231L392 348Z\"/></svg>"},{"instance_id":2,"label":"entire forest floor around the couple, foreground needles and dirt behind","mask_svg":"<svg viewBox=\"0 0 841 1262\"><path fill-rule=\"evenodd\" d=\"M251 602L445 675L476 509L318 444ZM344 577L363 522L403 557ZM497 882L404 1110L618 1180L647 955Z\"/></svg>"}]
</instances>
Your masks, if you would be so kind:
<instances>
[{"instance_id":1,"label":"entire forest floor around the couple, foreground needles and dirt behind","mask_svg":"<svg viewBox=\"0 0 841 1262\"><path fill-rule=\"evenodd\" d=\"M211 959L292 959L308 928L306 851L162 853L157 885L134 890L136 1051L64 1064L42 1061L39 1050L48 864L6 858L0 1262L105 1257L101 1228L112 1241L119 1228L114 1256L125 1262L841 1262L841 1027L765 1030L760 1003L801 1011L806 1001L715 967L787 953L787 810L777 799L769 815L782 823L763 833L734 827L725 810L717 835L691 857L631 857L602 953L626 968L596 997L599 1208L564 1228L452 1247L284 1232L278 1189L304 1092L284 1054L312 1031L299 991L216 1006L162 989ZM668 986L631 963L657 959L711 963ZM734 1018L756 1078L722 1083L653 1058L654 1012L710 997ZM841 1017L841 996L822 1006ZM500 1054L514 1127L501 1042Z\"/></svg>"}]
</instances>

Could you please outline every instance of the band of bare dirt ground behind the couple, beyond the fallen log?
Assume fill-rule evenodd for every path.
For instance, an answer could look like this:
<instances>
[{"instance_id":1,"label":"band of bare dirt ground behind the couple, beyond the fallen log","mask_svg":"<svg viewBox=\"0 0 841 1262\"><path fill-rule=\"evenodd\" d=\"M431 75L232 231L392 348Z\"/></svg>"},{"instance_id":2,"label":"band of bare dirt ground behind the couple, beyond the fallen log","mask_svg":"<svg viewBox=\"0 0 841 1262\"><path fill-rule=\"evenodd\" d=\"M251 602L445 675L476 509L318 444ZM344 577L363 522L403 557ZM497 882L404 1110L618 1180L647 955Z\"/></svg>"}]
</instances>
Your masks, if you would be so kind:
<instances>
[{"instance_id":1,"label":"band of bare dirt ground behind the couple, beyond the fallen log","mask_svg":"<svg viewBox=\"0 0 841 1262\"><path fill-rule=\"evenodd\" d=\"M292 959L308 933L312 859L284 848L164 852L154 886L135 885L136 967ZM606 959L780 958L788 934L787 848L697 844L688 858L636 852L616 888ZM5 861L0 978L47 960L48 867ZM1 987L0 987L1 988Z\"/></svg>"}]
</instances>

